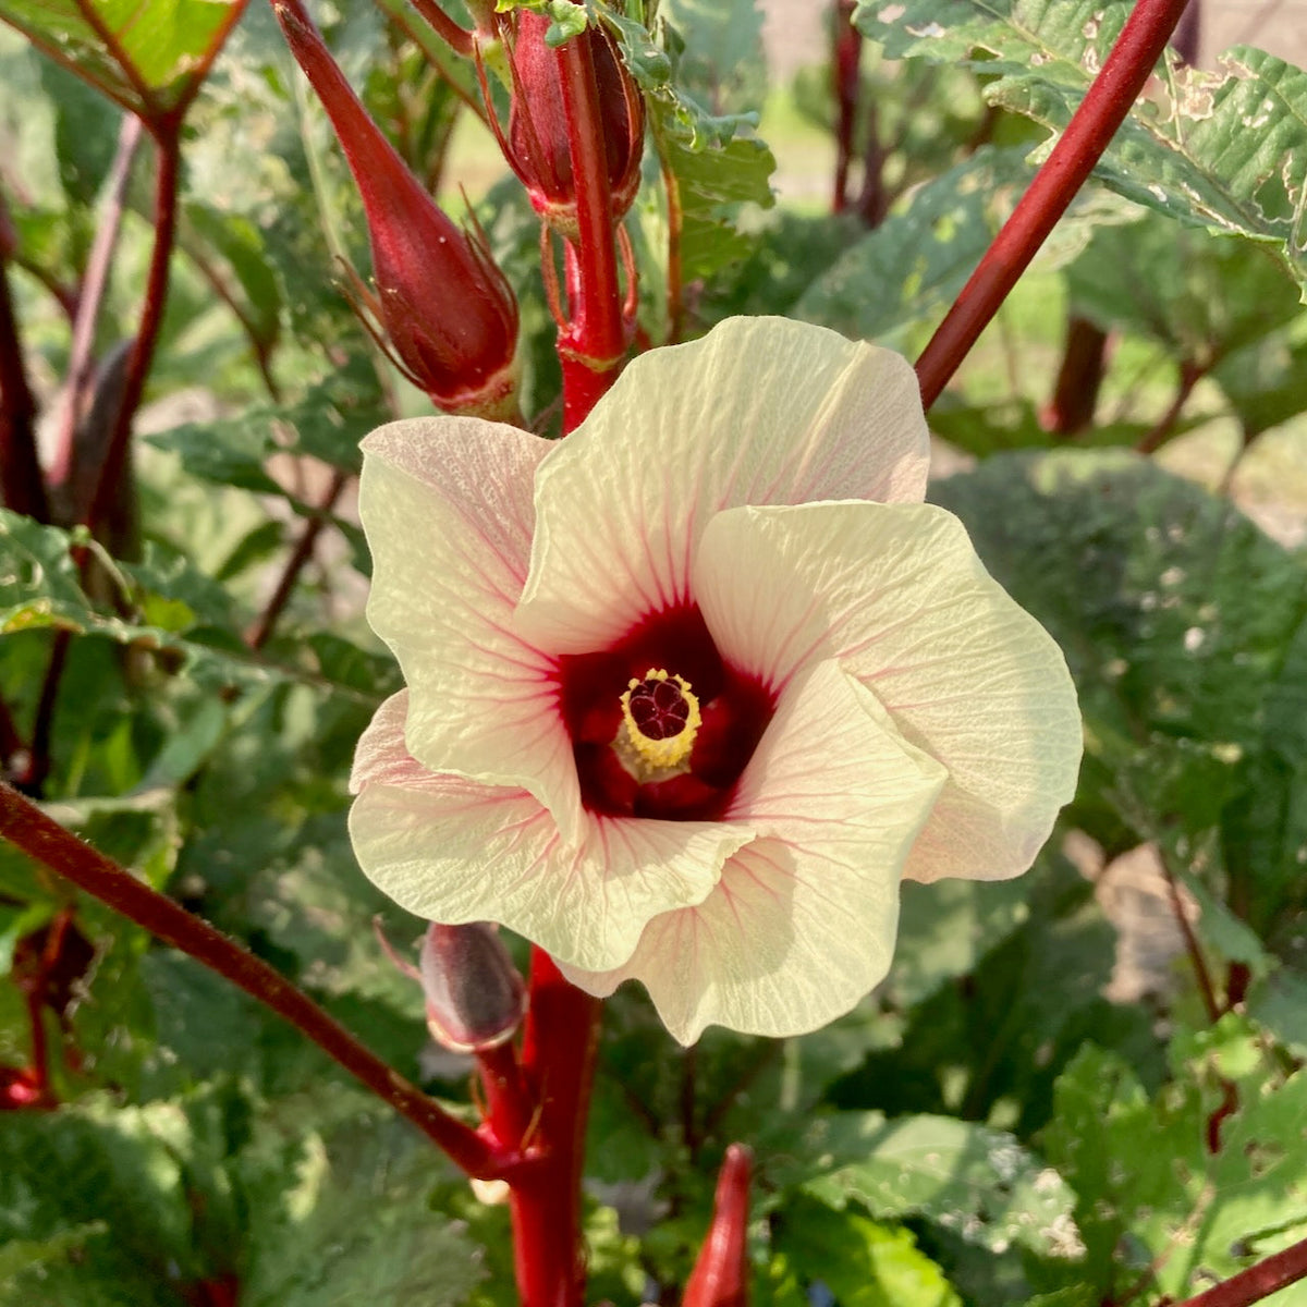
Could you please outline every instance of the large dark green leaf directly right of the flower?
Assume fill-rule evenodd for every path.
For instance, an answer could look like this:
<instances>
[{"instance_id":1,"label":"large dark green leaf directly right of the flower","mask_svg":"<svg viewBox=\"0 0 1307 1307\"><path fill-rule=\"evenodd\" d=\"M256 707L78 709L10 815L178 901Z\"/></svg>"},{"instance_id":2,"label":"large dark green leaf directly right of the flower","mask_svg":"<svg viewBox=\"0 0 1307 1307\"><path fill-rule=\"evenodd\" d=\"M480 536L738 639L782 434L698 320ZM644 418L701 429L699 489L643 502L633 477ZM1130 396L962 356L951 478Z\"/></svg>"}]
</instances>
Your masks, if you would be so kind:
<instances>
[{"instance_id":1,"label":"large dark green leaf directly right of the flower","mask_svg":"<svg viewBox=\"0 0 1307 1307\"><path fill-rule=\"evenodd\" d=\"M1307 659L1287 659L1294 640L1307 650L1302 561L1128 454L999 455L932 494L1067 655L1086 721L1082 818L1102 808L1142 839L1183 835L1192 856L1252 792L1247 759L1277 748L1281 686L1307 690ZM1294 853L1285 843L1259 874L1286 881Z\"/></svg>"}]
</instances>

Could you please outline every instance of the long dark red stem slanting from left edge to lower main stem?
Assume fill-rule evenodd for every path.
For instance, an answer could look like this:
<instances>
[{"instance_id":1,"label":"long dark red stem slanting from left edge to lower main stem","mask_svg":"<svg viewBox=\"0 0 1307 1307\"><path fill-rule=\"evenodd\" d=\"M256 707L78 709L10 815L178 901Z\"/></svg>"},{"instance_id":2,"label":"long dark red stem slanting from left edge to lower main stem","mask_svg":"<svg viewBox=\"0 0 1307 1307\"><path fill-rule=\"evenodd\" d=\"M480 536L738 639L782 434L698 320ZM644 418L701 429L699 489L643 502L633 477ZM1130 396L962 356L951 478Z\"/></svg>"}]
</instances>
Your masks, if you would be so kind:
<instances>
[{"instance_id":1,"label":"long dark red stem slanting from left edge to lower main stem","mask_svg":"<svg viewBox=\"0 0 1307 1307\"><path fill-rule=\"evenodd\" d=\"M344 1026L267 962L84 844L12 786L0 782L0 836L72 881L115 912L225 976L289 1021L356 1080L410 1120L468 1175L497 1179L523 1168L515 1151L497 1148L444 1112L399 1072L369 1052Z\"/></svg>"}]
</instances>

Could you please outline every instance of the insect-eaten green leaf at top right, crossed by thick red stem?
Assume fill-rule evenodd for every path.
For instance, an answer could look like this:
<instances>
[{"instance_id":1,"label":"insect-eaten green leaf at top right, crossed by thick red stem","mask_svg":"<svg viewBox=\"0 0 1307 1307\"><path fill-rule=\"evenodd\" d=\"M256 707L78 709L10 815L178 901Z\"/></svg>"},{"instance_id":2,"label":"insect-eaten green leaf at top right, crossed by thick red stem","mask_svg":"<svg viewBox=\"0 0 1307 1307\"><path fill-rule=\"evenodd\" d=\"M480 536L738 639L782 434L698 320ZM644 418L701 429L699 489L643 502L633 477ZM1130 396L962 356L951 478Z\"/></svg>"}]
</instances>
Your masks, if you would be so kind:
<instances>
[{"instance_id":1,"label":"insect-eaten green leaf at top right, crossed by thick red stem","mask_svg":"<svg viewBox=\"0 0 1307 1307\"><path fill-rule=\"evenodd\" d=\"M999 74L989 103L1061 131L1128 13L1095 0L859 0L855 22L895 59L987 51L974 65ZM1244 46L1222 63L1217 74L1168 67L1163 102L1131 112L1095 175L1191 226L1266 242L1307 298L1307 73Z\"/></svg>"}]
</instances>

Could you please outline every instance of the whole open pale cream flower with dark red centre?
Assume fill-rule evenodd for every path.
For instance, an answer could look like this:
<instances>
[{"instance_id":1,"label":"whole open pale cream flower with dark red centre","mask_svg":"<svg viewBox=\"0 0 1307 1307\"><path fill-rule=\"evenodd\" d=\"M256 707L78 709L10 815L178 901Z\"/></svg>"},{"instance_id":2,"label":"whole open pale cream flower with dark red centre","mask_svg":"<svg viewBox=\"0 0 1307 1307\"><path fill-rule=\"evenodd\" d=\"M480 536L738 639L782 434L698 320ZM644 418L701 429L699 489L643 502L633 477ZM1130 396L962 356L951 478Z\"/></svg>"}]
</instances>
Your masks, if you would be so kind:
<instances>
[{"instance_id":1,"label":"whole open pale cream flower with dark red centre","mask_svg":"<svg viewBox=\"0 0 1307 1307\"><path fill-rule=\"evenodd\" d=\"M408 690L350 833L420 916L639 979L686 1043L796 1034L885 975L902 877L1017 876L1072 796L1065 663L920 502L897 354L732 319L562 443L421 418L363 451Z\"/></svg>"}]
</instances>

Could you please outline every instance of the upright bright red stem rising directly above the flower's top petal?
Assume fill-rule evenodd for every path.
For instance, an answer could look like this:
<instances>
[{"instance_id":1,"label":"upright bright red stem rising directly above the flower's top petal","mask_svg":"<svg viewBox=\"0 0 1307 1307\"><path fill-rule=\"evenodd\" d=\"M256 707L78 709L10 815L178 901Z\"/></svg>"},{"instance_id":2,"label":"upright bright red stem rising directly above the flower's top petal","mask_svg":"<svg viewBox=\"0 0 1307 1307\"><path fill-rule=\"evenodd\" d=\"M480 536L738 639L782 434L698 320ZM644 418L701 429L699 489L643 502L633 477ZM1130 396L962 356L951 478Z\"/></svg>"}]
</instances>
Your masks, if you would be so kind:
<instances>
[{"instance_id":1,"label":"upright bright red stem rising directly above the flower's top petal","mask_svg":"<svg viewBox=\"0 0 1307 1307\"><path fill-rule=\"evenodd\" d=\"M563 429L571 431L617 380L617 365L626 353L626 328L595 60L584 41L565 42L555 58L576 179L579 229L578 239L567 243L570 324L558 337Z\"/></svg>"}]
</instances>

